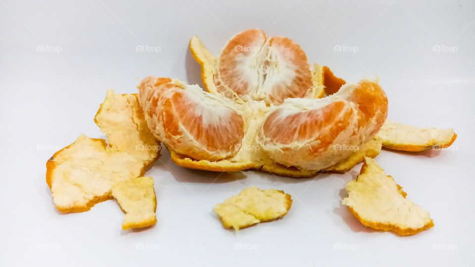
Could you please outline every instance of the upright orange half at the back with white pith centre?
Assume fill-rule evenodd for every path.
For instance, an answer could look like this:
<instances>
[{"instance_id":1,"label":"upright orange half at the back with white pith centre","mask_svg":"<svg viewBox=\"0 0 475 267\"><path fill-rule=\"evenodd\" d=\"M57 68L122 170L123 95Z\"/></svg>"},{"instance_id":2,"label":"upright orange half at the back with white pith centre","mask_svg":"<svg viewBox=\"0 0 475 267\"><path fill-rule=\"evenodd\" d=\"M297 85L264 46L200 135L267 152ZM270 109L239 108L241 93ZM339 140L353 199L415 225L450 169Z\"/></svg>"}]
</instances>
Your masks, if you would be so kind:
<instances>
[{"instance_id":1,"label":"upright orange half at the back with white pith centre","mask_svg":"<svg viewBox=\"0 0 475 267\"><path fill-rule=\"evenodd\" d=\"M250 96L282 104L312 89L312 71L302 48L285 37L267 39L261 30L236 35L223 49L215 83L225 97Z\"/></svg>"}]
</instances>

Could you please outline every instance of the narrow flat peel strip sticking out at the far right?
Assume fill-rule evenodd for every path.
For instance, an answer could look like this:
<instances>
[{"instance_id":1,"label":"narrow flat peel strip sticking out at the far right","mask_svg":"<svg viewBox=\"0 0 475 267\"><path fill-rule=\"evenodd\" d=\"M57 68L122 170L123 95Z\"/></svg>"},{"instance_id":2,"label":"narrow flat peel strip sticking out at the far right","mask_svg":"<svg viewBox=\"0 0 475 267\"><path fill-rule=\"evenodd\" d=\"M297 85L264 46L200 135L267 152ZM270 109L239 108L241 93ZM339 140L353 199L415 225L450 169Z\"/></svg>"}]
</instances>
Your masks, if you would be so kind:
<instances>
[{"instance_id":1,"label":"narrow flat peel strip sticking out at the far right","mask_svg":"<svg viewBox=\"0 0 475 267\"><path fill-rule=\"evenodd\" d=\"M453 129L418 128L386 120L377 135L388 149L419 152L449 147L457 138Z\"/></svg>"}]
</instances>

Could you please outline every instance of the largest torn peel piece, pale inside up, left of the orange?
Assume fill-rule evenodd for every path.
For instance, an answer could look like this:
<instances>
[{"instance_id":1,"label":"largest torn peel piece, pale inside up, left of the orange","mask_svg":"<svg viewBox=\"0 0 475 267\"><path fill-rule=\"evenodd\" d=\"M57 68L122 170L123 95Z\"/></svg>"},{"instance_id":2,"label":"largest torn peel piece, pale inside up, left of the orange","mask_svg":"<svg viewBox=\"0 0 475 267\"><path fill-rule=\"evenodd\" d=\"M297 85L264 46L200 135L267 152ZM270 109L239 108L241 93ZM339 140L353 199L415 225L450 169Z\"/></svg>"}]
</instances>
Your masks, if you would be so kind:
<instances>
[{"instance_id":1,"label":"largest torn peel piece, pale inside up, left of the orange","mask_svg":"<svg viewBox=\"0 0 475 267\"><path fill-rule=\"evenodd\" d=\"M88 211L112 199L115 183L142 176L160 156L136 95L109 90L95 122L109 144L82 134L47 161L46 181L61 212Z\"/></svg>"}]
</instances>

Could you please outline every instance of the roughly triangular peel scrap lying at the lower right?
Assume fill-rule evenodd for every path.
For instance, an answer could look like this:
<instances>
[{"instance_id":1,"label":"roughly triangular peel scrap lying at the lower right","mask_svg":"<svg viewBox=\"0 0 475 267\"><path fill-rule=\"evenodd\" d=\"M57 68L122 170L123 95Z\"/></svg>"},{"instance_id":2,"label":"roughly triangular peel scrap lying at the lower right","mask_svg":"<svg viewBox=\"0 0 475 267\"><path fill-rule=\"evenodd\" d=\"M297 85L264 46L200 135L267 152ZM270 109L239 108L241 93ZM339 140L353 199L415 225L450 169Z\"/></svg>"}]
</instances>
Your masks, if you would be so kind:
<instances>
[{"instance_id":1,"label":"roughly triangular peel scrap lying at the lower right","mask_svg":"<svg viewBox=\"0 0 475 267\"><path fill-rule=\"evenodd\" d=\"M406 198L406 192L374 159L365 157L360 175L346 185L342 204L365 226L413 235L434 226L429 213Z\"/></svg>"}]
</instances>

